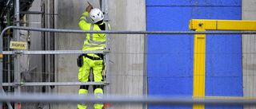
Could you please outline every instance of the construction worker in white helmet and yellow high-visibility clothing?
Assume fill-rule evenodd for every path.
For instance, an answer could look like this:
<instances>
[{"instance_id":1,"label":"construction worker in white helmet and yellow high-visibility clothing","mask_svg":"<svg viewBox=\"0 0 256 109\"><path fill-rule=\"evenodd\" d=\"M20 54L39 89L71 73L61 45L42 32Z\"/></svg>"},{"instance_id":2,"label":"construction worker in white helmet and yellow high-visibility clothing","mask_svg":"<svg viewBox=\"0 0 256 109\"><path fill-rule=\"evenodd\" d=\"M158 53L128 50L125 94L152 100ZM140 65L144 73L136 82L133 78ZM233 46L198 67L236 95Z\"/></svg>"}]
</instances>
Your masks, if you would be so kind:
<instances>
[{"instance_id":1,"label":"construction worker in white helmet and yellow high-visibility clothing","mask_svg":"<svg viewBox=\"0 0 256 109\"><path fill-rule=\"evenodd\" d=\"M93 23L87 23L87 18L90 16ZM89 5L86 7L80 18L79 26L82 30L106 30L106 23L103 21L104 15L98 8L93 8ZM110 25L108 25L110 29ZM107 29L108 30L108 29ZM82 50L103 50L106 47L106 34L105 33L86 33L86 40ZM83 64L79 68L78 80L81 82L90 81L90 70L92 69L94 75L94 82L102 81L102 68L103 68L103 54L83 54ZM79 89L79 96L86 97L89 86L82 85ZM101 85L95 85L94 96L98 99L103 97L103 90ZM103 103L95 103L95 109L102 109ZM78 104L79 109L86 109L86 103Z\"/></svg>"}]
</instances>

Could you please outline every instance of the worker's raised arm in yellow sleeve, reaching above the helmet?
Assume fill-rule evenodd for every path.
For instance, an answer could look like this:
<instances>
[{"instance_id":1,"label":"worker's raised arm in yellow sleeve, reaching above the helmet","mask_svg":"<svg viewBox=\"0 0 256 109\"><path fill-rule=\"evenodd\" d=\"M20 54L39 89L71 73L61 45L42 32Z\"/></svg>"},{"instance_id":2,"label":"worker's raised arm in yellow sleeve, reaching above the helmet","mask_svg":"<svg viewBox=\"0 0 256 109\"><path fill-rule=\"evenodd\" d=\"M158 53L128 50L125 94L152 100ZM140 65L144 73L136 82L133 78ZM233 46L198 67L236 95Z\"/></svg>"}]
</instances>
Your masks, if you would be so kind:
<instances>
[{"instance_id":1,"label":"worker's raised arm in yellow sleeve, reaching above the helmet","mask_svg":"<svg viewBox=\"0 0 256 109\"><path fill-rule=\"evenodd\" d=\"M87 23L87 18L89 16L90 10L93 8L93 6L87 6L86 7L86 12L84 12L80 18L80 21L78 23L79 27L82 30L90 30L90 23Z\"/></svg>"}]
</instances>

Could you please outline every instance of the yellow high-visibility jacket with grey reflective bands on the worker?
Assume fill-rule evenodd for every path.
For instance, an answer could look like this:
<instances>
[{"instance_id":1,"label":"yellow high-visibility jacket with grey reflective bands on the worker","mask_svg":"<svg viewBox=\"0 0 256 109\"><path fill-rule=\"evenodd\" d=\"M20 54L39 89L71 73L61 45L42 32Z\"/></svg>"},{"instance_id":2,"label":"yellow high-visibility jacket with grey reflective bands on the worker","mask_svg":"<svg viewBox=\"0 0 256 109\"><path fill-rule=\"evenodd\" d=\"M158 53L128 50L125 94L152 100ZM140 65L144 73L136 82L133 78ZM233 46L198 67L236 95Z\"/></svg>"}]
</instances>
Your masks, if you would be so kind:
<instances>
[{"instance_id":1,"label":"yellow high-visibility jacket with grey reflective bands on the worker","mask_svg":"<svg viewBox=\"0 0 256 109\"><path fill-rule=\"evenodd\" d=\"M94 23L87 23L89 13L86 11L82 14L79 26L82 30L101 30L98 25ZM103 25L99 24L99 25ZM110 30L110 25L108 25ZM86 33L86 40L84 41L84 45L82 50L103 50L106 47L106 33Z\"/></svg>"}]
</instances>

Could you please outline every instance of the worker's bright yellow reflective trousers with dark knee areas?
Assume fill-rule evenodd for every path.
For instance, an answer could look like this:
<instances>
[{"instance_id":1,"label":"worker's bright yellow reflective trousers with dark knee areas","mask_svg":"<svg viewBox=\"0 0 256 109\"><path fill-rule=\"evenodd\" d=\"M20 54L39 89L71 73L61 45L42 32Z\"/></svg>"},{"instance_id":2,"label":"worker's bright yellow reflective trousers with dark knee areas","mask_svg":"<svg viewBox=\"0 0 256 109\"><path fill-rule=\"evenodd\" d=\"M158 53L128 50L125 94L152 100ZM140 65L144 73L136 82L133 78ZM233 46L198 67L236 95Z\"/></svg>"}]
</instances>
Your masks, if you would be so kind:
<instances>
[{"instance_id":1,"label":"worker's bright yellow reflective trousers with dark knee areas","mask_svg":"<svg viewBox=\"0 0 256 109\"><path fill-rule=\"evenodd\" d=\"M102 81L102 64L103 60L91 60L88 57L83 56L83 64L82 67L79 68L78 72L78 80L80 82L87 82L90 76L90 69L93 69L94 74L94 82L101 82ZM86 97L88 93L88 86L81 86L79 89L79 96ZM103 90L100 86L94 86L94 96L95 98L102 99L103 97ZM102 109L103 103L95 103L95 109ZM86 109L86 103L78 104L79 109Z\"/></svg>"}]
</instances>

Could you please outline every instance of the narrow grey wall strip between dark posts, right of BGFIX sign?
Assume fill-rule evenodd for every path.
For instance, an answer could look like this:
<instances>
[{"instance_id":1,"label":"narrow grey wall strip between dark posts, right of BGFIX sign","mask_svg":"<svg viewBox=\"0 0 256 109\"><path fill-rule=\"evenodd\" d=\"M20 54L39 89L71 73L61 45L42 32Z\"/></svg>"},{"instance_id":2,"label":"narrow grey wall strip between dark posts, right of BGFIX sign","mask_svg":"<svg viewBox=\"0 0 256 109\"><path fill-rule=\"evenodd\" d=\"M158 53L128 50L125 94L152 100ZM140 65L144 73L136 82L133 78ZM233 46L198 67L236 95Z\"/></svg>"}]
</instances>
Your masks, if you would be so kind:
<instances>
[{"instance_id":1,"label":"narrow grey wall strip between dark posts, right of BGFIX sign","mask_svg":"<svg viewBox=\"0 0 256 109\"><path fill-rule=\"evenodd\" d=\"M30 7L29 11L41 11L41 0L35 0ZM41 14L28 14L27 25L29 27L41 28ZM30 46L28 50L42 50L41 33L35 31L29 31ZM42 82L42 55L24 55L29 62L21 60L21 64L28 64L30 70L31 82ZM22 57L24 57L22 56ZM22 70L24 71L24 70ZM23 79L24 77L22 77ZM23 82L27 82L23 79ZM22 92L42 92L42 87L23 87ZM22 103L22 108L32 109L38 108L40 103Z\"/></svg>"}]
</instances>

